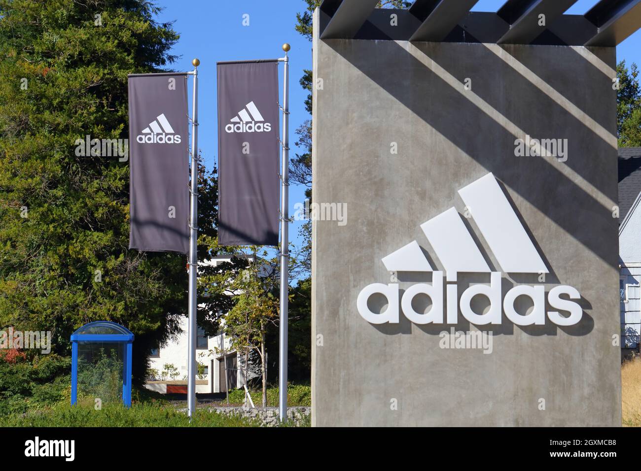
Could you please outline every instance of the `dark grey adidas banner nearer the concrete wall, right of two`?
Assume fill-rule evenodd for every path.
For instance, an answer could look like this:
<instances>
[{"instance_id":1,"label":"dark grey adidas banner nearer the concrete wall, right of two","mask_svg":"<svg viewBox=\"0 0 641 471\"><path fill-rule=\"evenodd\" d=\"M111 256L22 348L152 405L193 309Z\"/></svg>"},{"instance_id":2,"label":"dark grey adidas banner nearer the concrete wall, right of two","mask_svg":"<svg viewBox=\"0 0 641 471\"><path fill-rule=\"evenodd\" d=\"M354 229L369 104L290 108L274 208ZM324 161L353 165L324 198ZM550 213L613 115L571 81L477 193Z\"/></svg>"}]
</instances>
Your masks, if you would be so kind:
<instances>
[{"instance_id":1,"label":"dark grey adidas banner nearer the concrete wall, right of two","mask_svg":"<svg viewBox=\"0 0 641 471\"><path fill-rule=\"evenodd\" d=\"M219 244L278 245L278 62L217 74Z\"/></svg>"}]
</instances>

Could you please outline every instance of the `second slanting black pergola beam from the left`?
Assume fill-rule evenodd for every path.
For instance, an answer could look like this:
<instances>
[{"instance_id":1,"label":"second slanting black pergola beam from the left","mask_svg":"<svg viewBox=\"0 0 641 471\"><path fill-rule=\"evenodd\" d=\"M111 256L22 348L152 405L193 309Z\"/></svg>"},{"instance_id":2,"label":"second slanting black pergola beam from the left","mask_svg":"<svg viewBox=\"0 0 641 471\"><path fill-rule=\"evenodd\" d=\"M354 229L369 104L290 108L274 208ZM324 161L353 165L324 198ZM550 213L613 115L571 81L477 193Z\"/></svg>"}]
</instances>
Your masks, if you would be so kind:
<instances>
[{"instance_id":1,"label":"second slanting black pergola beam from the left","mask_svg":"<svg viewBox=\"0 0 641 471\"><path fill-rule=\"evenodd\" d=\"M478 0L415 0L410 13L422 23L412 33L410 41L444 40L470 12Z\"/></svg>"}]
</instances>

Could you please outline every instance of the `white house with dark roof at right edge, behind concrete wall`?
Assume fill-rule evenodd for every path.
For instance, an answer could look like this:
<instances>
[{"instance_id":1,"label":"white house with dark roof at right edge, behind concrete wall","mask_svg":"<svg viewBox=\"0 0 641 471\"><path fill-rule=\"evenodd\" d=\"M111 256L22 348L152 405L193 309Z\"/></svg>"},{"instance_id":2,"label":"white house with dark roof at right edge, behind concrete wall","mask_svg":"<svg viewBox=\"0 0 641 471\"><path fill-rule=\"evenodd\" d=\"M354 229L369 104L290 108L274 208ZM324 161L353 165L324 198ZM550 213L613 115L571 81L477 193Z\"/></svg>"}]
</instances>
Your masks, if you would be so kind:
<instances>
[{"instance_id":1,"label":"white house with dark roof at right edge, behind concrete wall","mask_svg":"<svg viewBox=\"0 0 641 471\"><path fill-rule=\"evenodd\" d=\"M622 356L641 333L641 147L619 149L619 292Z\"/></svg>"}]
</instances>

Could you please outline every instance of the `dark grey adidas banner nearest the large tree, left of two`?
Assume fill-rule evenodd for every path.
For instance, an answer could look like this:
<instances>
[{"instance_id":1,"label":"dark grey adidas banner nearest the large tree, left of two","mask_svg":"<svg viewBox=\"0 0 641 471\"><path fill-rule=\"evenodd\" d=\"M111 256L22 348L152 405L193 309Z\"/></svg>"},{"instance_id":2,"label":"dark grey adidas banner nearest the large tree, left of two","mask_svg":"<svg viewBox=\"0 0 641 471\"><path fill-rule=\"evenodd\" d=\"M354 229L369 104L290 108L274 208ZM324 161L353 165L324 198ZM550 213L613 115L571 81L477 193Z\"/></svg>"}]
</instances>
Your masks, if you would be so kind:
<instances>
[{"instance_id":1,"label":"dark grey adidas banner nearest the large tree, left of two","mask_svg":"<svg viewBox=\"0 0 641 471\"><path fill-rule=\"evenodd\" d=\"M129 249L189 251L187 75L129 76Z\"/></svg>"}]
</instances>

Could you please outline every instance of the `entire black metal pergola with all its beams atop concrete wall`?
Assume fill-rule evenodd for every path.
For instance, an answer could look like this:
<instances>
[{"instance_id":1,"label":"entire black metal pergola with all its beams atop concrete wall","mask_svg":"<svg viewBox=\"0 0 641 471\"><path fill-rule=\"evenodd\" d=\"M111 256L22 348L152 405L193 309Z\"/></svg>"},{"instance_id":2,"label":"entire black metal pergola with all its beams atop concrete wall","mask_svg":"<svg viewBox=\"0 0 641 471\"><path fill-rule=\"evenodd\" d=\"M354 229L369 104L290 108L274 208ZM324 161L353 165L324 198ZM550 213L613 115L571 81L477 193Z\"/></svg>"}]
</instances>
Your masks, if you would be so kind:
<instances>
[{"instance_id":1,"label":"entire black metal pergola with all its beams atop concrete wall","mask_svg":"<svg viewBox=\"0 0 641 471\"><path fill-rule=\"evenodd\" d=\"M476 0L415 0L408 9L376 3L323 0L320 38L614 47L641 26L641 0L602 0L585 15L559 13L571 0L510 0L498 12L470 12Z\"/></svg>"}]
</instances>

